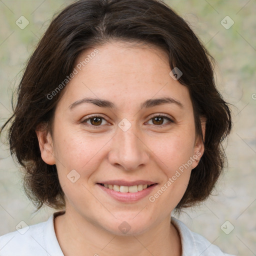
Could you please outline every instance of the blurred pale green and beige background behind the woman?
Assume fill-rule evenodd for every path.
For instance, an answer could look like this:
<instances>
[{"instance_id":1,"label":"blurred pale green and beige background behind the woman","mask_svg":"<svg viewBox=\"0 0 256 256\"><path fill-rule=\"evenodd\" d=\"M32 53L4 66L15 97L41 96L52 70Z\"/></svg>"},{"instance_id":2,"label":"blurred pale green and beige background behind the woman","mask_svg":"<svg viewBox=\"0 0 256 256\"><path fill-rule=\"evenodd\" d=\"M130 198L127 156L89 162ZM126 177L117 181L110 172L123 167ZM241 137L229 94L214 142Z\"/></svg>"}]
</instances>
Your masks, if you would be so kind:
<instances>
[{"instance_id":1,"label":"blurred pale green and beige background behind the woman","mask_svg":"<svg viewBox=\"0 0 256 256\"><path fill-rule=\"evenodd\" d=\"M11 115L11 95L27 58L54 13L70 0L0 0L0 125ZM232 104L233 130L223 146L228 166L213 195L179 216L223 251L256 255L256 21L255 0L165 0L216 60L217 86ZM0 143L0 235L45 221L55 210L35 207L5 139Z\"/></svg>"}]
</instances>

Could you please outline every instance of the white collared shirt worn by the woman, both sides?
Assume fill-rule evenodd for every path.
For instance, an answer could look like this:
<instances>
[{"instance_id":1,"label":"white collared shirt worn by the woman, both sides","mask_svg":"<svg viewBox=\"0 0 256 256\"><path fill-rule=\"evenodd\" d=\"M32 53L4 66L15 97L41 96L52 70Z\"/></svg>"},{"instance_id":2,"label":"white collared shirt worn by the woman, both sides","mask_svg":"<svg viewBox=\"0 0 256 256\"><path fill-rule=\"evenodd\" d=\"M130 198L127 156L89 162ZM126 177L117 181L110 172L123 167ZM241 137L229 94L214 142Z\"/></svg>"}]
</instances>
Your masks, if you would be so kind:
<instances>
[{"instance_id":1,"label":"white collared shirt worn by the woman, both sides","mask_svg":"<svg viewBox=\"0 0 256 256\"><path fill-rule=\"evenodd\" d=\"M0 256L64 256L53 222L54 217L60 213L61 211L53 213L45 222L0 236ZM174 217L171 219L181 237L182 256L234 256L223 253L219 247L192 232L180 220Z\"/></svg>"}]
</instances>

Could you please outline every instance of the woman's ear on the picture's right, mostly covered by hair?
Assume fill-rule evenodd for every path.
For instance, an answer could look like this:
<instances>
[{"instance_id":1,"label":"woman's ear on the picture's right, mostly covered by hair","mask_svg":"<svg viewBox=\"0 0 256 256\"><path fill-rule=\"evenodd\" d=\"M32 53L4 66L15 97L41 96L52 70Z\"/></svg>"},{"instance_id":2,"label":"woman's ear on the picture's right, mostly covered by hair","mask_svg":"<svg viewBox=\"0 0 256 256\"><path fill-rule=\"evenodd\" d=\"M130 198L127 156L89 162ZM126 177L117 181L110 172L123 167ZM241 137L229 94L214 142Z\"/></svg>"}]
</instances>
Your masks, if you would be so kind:
<instances>
[{"instance_id":1,"label":"woman's ear on the picture's right, mostly covered by hair","mask_svg":"<svg viewBox=\"0 0 256 256\"><path fill-rule=\"evenodd\" d=\"M204 152L203 141L205 137L206 118L200 117L200 122L201 122L202 138L199 135L197 135L195 138L194 152L193 152L194 154L192 156L195 160L192 162L192 169L198 165L199 160L202 157Z\"/></svg>"}]
</instances>

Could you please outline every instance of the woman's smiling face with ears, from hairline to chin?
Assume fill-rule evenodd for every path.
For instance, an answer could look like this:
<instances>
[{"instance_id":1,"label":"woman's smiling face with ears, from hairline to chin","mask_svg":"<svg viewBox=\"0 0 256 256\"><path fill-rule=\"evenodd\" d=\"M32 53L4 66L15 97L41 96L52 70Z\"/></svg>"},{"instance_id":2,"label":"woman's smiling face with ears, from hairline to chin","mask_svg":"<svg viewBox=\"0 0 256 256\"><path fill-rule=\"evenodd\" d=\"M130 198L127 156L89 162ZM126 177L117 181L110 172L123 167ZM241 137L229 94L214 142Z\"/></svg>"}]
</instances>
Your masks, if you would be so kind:
<instances>
[{"instance_id":1,"label":"woman's smiling face with ears, from hairline to chin","mask_svg":"<svg viewBox=\"0 0 256 256\"><path fill-rule=\"evenodd\" d=\"M188 89L169 75L164 51L117 41L97 49L77 59L52 132L37 131L41 156L56 164L66 213L138 234L170 216L203 145Z\"/></svg>"}]
</instances>

